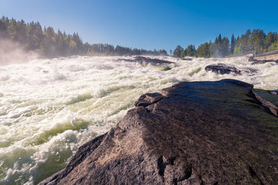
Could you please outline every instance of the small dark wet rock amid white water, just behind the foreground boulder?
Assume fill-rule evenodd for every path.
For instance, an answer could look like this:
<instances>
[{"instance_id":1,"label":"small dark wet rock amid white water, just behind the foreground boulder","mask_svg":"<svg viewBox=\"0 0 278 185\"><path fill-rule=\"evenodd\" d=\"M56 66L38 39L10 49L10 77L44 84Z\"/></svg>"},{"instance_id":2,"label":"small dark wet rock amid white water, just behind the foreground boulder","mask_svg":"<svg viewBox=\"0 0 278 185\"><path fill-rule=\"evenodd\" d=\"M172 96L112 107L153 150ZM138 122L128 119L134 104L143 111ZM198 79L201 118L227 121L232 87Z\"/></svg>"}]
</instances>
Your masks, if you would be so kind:
<instances>
[{"instance_id":1,"label":"small dark wet rock amid white water, just behind the foreground boulder","mask_svg":"<svg viewBox=\"0 0 278 185\"><path fill-rule=\"evenodd\" d=\"M218 74L229 74L233 73L234 75L242 75L243 73L247 73L250 76L253 76L254 73L258 72L256 69L252 68L240 68L228 66L227 64L211 64L205 67L206 71L213 71Z\"/></svg>"}]
</instances>

